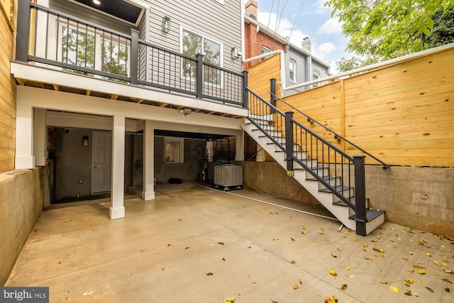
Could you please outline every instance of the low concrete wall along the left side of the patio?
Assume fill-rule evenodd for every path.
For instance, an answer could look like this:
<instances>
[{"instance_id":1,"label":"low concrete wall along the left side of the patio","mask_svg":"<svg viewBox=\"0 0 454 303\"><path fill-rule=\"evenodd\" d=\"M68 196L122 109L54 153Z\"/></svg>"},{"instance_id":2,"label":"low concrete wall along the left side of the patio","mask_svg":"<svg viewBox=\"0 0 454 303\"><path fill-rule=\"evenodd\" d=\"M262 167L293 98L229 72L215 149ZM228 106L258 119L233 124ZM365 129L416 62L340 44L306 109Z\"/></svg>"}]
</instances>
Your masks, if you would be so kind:
<instances>
[{"instance_id":1,"label":"low concrete wall along the left side of the patio","mask_svg":"<svg viewBox=\"0 0 454 303\"><path fill-rule=\"evenodd\" d=\"M44 167L0 174L0 286L43 211Z\"/></svg>"}]
</instances>

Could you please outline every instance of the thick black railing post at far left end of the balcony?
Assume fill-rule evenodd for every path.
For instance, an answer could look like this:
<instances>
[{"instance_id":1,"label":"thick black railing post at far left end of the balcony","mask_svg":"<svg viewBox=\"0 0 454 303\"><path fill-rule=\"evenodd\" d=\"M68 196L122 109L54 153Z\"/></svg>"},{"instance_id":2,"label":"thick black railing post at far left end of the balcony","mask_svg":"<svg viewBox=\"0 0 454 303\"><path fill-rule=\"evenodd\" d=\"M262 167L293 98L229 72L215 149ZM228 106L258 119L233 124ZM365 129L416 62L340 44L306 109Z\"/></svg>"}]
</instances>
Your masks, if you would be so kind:
<instances>
[{"instance_id":1,"label":"thick black railing post at far left end of the balcony","mask_svg":"<svg viewBox=\"0 0 454 303\"><path fill-rule=\"evenodd\" d=\"M18 1L16 60L28 62L28 39L30 37L30 1ZM36 46L35 46L36 47Z\"/></svg>"}]
</instances>

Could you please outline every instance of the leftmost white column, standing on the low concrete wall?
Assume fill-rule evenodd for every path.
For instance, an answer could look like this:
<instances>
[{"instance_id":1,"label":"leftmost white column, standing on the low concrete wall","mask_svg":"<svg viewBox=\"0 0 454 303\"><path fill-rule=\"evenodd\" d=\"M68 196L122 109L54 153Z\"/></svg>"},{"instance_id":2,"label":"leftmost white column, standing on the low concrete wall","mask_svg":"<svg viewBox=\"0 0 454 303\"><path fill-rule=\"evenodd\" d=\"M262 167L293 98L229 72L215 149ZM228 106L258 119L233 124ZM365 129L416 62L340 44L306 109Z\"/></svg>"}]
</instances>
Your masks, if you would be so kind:
<instances>
[{"instance_id":1,"label":"leftmost white column, standing on the low concrete wall","mask_svg":"<svg viewBox=\"0 0 454 303\"><path fill-rule=\"evenodd\" d=\"M35 168L33 157L33 107L16 105L16 170Z\"/></svg>"}]
</instances>

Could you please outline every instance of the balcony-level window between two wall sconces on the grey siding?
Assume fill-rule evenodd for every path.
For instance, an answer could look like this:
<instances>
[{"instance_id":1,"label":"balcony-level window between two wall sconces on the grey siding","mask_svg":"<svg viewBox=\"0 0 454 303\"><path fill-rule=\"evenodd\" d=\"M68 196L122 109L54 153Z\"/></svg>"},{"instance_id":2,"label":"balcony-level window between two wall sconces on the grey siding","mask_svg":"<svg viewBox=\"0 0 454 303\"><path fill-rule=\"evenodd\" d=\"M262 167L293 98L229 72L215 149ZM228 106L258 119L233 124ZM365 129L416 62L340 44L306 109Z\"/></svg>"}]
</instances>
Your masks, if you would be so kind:
<instances>
[{"instance_id":1,"label":"balcony-level window between two wall sconces on the grey siding","mask_svg":"<svg viewBox=\"0 0 454 303\"><path fill-rule=\"evenodd\" d=\"M190 57L197 54L204 55L204 62L221 67L222 45L214 40L183 29L182 53ZM196 78L196 64L194 61L183 60L183 77ZM216 67L204 66L204 81L212 84L221 84L221 71Z\"/></svg>"}]
</instances>

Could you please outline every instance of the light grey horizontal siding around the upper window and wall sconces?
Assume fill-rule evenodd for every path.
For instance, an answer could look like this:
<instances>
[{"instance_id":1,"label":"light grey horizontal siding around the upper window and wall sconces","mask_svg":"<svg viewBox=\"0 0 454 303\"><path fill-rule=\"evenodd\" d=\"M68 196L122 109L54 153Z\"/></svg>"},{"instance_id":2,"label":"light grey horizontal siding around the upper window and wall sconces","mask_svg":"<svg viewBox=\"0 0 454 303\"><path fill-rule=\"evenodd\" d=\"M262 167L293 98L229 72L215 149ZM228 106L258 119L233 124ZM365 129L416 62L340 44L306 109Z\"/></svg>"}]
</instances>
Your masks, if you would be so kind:
<instances>
[{"instance_id":1,"label":"light grey horizontal siding around the upper window and wall sconces","mask_svg":"<svg viewBox=\"0 0 454 303\"><path fill-rule=\"evenodd\" d=\"M179 52L179 33L183 26L223 45L223 67L241 72L243 62L231 59L231 48L241 50L241 1L166 1L150 2L147 41ZM170 17L169 33L162 33L162 18Z\"/></svg>"}]
</instances>

